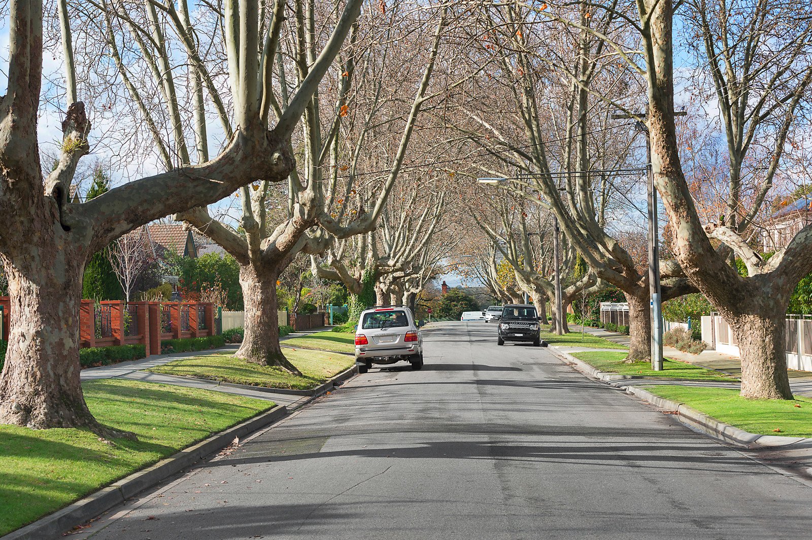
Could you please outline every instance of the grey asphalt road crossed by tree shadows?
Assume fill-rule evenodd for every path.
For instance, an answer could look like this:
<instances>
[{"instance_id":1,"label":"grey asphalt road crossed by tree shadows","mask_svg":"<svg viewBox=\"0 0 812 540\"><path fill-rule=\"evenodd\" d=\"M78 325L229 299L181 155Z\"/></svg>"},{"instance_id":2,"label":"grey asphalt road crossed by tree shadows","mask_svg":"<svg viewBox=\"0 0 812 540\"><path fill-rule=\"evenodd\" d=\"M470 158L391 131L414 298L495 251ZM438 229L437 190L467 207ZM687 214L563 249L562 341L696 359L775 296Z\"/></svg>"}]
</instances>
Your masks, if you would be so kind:
<instances>
[{"instance_id":1,"label":"grey asphalt road crossed by tree shadows","mask_svg":"<svg viewBox=\"0 0 812 540\"><path fill-rule=\"evenodd\" d=\"M357 376L91 538L812 535L812 488L546 349L484 323L424 336L422 371Z\"/></svg>"}]
</instances>

